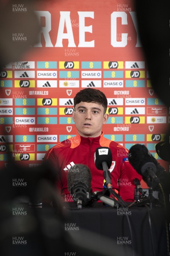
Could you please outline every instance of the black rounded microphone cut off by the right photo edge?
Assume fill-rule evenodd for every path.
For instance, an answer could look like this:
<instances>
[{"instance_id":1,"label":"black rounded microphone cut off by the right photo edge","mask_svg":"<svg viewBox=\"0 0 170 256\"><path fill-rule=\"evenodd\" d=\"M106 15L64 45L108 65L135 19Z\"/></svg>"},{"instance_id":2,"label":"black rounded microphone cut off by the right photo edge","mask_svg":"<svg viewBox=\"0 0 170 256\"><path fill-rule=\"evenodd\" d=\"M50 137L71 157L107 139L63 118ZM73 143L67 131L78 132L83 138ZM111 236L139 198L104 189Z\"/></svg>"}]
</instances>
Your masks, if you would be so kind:
<instances>
[{"instance_id":1,"label":"black rounded microphone cut off by the right photo edge","mask_svg":"<svg viewBox=\"0 0 170 256\"><path fill-rule=\"evenodd\" d=\"M166 141L161 141L155 146L156 153L164 161L170 162L170 143Z\"/></svg>"}]
</instances>

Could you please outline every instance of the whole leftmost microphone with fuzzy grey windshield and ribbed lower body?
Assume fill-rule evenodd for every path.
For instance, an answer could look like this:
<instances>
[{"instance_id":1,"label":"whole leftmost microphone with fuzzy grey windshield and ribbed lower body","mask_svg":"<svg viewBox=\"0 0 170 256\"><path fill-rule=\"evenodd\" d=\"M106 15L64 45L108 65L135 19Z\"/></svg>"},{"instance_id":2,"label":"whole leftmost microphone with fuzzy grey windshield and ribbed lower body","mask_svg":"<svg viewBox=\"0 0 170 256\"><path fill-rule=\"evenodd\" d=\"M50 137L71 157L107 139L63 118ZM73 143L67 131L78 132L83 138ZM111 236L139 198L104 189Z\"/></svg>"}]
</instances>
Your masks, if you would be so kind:
<instances>
[{"instance_id":1,"label":"whole leftmost microphone with fuzzy grey windshield and ribbed lower body","mask_svg":"<svg viewBox=\"0 0 170 256\"><path fill-rule=\"evenodd\" d=\"M68 172L68 191L74 196L78 209L88 203L88 193L91 192L91 171L84 164L72 166Z\"/></svg>"}]
</instances>

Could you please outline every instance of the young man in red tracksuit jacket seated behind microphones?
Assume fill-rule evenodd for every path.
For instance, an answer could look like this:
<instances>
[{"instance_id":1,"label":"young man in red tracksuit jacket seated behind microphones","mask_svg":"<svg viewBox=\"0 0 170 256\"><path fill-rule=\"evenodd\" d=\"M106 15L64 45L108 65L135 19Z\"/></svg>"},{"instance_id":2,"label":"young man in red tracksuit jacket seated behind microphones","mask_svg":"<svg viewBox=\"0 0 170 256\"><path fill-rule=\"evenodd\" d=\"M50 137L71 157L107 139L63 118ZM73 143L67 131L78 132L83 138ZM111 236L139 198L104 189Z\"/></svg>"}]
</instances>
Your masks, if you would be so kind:
<instances>
[{"instance_id":1,"label":"young man in red tracksuit jacket seated behind microphones","mask_svg":"<svg viewBox=\"0 0 170 256\"><path fill-rule=\"evenodd\" d=\"M127 179L128 170L123 166L123 158L127 157L128 151L118 143L106 139L102 132L102 125L108 120L107 106L105 94L96 89L80 90L74 97L72 117L77 128L76 137L57 143L45 155L45 160L52 162L57 169L57 188L62 195L69 194L68 169L78 163L85 164L91 170L93 192L103 189L104 176L101 170L96 169L94 153L98 147L109 147L113 160L110 168L113 189L119 192L124 201L134 200L134 186Z\"/></svg>"}]
</instances>

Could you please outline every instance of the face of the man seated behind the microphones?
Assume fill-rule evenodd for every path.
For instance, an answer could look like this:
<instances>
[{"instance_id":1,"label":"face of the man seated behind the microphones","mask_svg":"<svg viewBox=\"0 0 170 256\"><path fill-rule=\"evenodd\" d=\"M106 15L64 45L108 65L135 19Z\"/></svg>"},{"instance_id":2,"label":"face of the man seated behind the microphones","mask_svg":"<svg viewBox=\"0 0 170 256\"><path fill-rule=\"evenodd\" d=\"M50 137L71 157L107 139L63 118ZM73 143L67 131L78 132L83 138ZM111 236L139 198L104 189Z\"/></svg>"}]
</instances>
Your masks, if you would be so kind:
<instances>
[{"instance_id":1,"label":"face of the man seated behind the microphones","mask_svg":"<svg viewBox=\"0 0 170 256\"><path fill-rule=\"evenodd\" d=\"M102 105L92 102L80 102L73 112L78 134L82 137L98 137L102 133L102 125L108 120Z\"/></svg>"}]
</instances>

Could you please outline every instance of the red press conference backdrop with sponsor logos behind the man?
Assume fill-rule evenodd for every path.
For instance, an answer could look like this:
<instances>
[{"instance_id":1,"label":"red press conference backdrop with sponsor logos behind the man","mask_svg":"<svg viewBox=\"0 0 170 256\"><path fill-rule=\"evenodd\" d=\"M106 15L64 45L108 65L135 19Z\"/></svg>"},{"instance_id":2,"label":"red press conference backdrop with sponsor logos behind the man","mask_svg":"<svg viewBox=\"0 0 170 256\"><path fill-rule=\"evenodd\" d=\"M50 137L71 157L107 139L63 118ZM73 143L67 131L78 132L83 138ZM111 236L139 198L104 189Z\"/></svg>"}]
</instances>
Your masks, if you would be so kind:
<instances>
[{"instance_id":1,"label":"red press conference backdrop with sponsor logos behind the man","mask_svg":"<svg viewBox=\"0 0 170 256\"><path fill-rule=\"evenodd\" d=\"M164 140L169 110L150 83L133 2L64 0L41 3L36 13L40 42L0 71L0 165L7 145L17 163L34 167L75 136L73 98L89 87L108 98L105 137L128 149L145 144L165 166L155 145ZM12 40L24 43L27 35L16 32Z\"/></svg>"}]
</instances>

